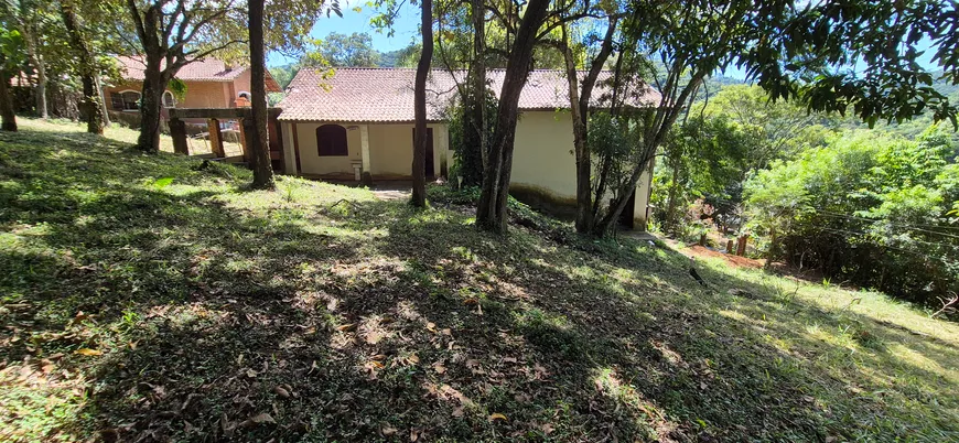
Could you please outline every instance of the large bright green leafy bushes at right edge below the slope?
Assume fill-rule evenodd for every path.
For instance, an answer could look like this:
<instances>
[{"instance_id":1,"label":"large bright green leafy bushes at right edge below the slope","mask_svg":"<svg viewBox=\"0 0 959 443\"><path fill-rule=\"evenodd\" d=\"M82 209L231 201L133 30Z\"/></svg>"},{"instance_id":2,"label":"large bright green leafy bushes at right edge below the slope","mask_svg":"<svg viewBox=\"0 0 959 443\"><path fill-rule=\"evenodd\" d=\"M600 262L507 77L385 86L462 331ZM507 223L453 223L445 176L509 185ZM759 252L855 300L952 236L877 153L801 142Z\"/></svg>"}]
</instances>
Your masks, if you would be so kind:
<instances>
[{"instance_id":1,"label":"large bright green leafy bushes at right edge below the slope","mask_svg":"<svg viewBox=\"0 0 959 443\"><path fill-rule=\"evenodd\" d=\"M837 137L747 183L750 226L777 231L789 262L931 302L959 277L953 149L935 128L916 141Z\"/></svg>"}]
</instances>

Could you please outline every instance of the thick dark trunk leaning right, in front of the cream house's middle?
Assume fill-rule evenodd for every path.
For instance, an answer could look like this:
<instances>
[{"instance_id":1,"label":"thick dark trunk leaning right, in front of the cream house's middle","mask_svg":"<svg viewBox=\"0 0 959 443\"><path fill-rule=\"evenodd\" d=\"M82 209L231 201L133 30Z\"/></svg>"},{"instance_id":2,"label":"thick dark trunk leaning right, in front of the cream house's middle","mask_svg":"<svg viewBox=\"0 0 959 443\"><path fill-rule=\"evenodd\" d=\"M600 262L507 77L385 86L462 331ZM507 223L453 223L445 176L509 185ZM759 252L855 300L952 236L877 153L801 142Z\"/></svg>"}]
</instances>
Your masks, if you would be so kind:
<instances>
[{"instance_id":1,"label":"thick dark trunk leaning right, in front of the cream house's middle","mask_svg":"<svg viewBox=\"0 0 959 443\"><path fill-rule=\"evenodd\" d=\"M496 129L489 144L489 156L483 176L483 192L476 207L476 225L481 229L506 233L506 202L509 175L513 171L513 143L519 111L519 94L529 76L536 33L546 19L549 0L530 0L519 24L513 51L506 62Z\"/></svg>"}]
</instances>

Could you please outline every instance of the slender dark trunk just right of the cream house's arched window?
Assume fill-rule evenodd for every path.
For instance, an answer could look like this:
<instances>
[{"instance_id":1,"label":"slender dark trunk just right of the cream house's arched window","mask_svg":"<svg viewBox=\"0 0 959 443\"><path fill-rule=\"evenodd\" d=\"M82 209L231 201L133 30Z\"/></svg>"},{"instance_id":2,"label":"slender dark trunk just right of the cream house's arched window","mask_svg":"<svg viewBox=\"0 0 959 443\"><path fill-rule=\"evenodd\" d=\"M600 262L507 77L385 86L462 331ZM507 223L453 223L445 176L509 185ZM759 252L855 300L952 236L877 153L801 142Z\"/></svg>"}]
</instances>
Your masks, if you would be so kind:
<instances>
[{"instance_id":1,"label":"slender dark trunk just right of the cream house's arched window","mask_svg":"<svg viewBox=\"0 0 959 443\"><path fill-rule=\"evenodd\" d=\"M423 35L423 51L417 64L417 82L413 88L413 115L416 118L416 137L413 140L413 190L410 204L416 207L427 206L427 76L430 74L430 61L433 58L433 2L421 0L422 13L420 28Z\"/></svg>"}]
</instances>

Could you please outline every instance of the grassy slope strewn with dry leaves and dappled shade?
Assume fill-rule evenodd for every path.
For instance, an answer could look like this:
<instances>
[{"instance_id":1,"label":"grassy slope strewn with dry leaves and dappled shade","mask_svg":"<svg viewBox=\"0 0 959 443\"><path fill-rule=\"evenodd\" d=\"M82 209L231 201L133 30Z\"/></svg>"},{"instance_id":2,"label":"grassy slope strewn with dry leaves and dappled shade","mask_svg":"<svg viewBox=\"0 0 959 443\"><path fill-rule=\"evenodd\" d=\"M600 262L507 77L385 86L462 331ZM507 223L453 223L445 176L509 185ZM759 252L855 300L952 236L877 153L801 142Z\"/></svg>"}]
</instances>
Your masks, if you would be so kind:
<instances>
[{"instance_id":1,"label":"grassy slope strewn with dry leaves and dappled shade","mask_svg":"<svg viewBox=\"0 0 959 443\"><path fill-rule=\"evenodd\" d=\"M959 440L959 327L881 294L22 127L0 440Z\"/></svg>"}]
</instances>

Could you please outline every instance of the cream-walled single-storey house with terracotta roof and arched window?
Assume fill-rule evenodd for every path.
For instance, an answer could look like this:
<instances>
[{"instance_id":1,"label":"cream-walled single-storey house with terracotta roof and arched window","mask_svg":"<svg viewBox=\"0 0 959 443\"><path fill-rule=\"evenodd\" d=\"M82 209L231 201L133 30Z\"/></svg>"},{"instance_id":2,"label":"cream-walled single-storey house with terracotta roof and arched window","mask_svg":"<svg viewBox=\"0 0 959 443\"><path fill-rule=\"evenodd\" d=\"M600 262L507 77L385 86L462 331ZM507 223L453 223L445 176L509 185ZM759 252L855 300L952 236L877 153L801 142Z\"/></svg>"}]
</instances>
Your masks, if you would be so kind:
<instances>
[{"instance_id":1,"label":"cream-walled single-storey house with terracotta roof and arched window","mask_svg":"<svg viewBox=\"0 0 959 443\"><path fill-rule=\"evenodd\" d=\"M284 170L308 177L376 181L410 177L413 149L413 79L416 69L300 69L278 105ZM606 76L607 74L604 74ZM457 73L462 82L464 73ZM488 73L491 87L502 89L504 71ZM430 147L427 175L443 176L453 160L443 110L455 95L446 71L434 69L427 87ZM562 73L534 71L519 99L510 193L549 209L575 207L575 159ZM597 85L595 97L604 88ZM659 94L645 87L636 106L655 106ZM644 229L650 170L640 180L624 223ZM450 177L450 180L456 180Z\"/></svg>"}]
</instances>

